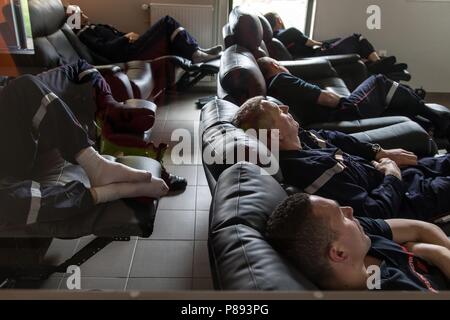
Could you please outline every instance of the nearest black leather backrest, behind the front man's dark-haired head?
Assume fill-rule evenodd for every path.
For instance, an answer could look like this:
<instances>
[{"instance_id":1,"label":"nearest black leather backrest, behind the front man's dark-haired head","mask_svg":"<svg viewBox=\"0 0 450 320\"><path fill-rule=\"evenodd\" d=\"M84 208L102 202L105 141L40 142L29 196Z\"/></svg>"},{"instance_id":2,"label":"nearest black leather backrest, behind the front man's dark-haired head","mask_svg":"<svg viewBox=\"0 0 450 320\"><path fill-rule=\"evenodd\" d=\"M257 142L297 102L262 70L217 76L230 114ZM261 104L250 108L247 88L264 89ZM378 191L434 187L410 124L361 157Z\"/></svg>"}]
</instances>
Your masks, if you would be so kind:
<instances>
[{"instance_id":1,"label":"nearest black leather backrest, behind the front man's dark-haired head","mask_svg":"<svg viewBox=\"0 0 450 320\"><path fill-rule=\"evenodd\" d=\"M264 236L268 217L286 197L276 180L249 163L238 163L220 177L208 241L217 289L316 289Z\"/></svg>"}]
</instances>

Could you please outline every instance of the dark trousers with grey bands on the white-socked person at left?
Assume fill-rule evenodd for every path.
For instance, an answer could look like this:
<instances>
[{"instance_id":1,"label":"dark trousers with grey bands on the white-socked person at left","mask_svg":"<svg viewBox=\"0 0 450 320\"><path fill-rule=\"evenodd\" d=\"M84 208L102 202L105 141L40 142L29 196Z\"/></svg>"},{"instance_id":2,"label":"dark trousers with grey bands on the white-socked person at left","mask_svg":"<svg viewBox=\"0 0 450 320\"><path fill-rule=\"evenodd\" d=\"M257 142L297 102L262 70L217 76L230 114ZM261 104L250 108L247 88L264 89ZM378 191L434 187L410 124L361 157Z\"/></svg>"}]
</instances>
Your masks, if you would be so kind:
<instances>
[{"instance_id":1,"label":"dark trousers with grey bands on the white-socked person at left","mask_svg":"<svg viewBox=\"0 0 450 320\"><path fill-rule=\"evenodd\" d=\"M76 155L92 144L69 106L38 77L25 75L5 87L0 93L1 228L63 221L91 210L91 193L81 182L41 186L33 169L50 149L76 163Z\"/></svg>"}]
</instances>

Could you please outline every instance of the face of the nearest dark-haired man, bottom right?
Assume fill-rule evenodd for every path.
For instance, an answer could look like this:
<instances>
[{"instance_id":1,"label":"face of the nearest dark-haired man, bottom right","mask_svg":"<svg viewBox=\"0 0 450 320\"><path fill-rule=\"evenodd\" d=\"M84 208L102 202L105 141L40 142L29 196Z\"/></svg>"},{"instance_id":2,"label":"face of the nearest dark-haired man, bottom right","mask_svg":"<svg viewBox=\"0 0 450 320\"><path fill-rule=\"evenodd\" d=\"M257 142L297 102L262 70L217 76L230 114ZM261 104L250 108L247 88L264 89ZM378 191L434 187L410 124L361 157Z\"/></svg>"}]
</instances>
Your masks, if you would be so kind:
<instances>
[{"instance_id":1,"label":"face of the nearest dark-haired man, bottom right","mask_svg":"<svg viewBox=\"0 0 450 320\"><path fill-rule=\"evenodd\" d=\"M336 232L337 239L333 246L347 254L352 261L364 260L371 241L353 216L353 209L340 207L336 201L317 196L311 196L311 203L314 214L325 218Z\"/></svg>"}]
</instances>

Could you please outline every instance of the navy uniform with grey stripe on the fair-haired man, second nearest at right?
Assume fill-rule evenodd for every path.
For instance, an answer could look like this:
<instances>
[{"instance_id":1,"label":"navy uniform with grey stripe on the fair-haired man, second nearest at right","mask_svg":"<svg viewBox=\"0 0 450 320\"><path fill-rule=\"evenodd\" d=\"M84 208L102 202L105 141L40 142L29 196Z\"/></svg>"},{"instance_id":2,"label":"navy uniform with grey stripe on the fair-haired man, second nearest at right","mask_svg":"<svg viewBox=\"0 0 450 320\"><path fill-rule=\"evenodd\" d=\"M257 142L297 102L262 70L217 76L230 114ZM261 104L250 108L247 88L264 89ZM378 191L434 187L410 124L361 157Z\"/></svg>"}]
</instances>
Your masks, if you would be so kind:
<instances>
[{"instance_id":1,"label":"navy uniform with grey stripe on the fair-haired man, second nearest at right","mask_svg":"<svg viewBox=\"0 0 450 320\"><path fill-rule=\"evenodd\" d=\"M327 130L300 130L299 136L301 150L280 152L288 185L351 206L360 217L431 221L450 212L449 154L420 159L402 169L400 180L373 167L370 143Z\"/></svg>"}]
</instances>

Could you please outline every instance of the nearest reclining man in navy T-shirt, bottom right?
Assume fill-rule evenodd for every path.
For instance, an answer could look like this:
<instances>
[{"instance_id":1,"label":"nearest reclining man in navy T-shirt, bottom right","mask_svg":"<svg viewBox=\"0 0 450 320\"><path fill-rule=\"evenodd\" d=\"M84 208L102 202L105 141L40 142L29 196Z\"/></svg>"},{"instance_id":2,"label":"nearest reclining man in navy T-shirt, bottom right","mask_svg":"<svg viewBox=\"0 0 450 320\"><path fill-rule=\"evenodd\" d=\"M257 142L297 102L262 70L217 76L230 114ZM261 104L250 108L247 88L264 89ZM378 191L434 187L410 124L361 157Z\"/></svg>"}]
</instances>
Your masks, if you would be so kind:
<instances>
[{"instance_id":1,"label":"nearest reclining man in navy T-shirt, bottom right","mask_svg":"<svg viewBox=\"0 0 450 320\"><path fill-rule=\"evenodd\" d=\"M429 223L355 218L351 207L299 193L272 213L267 237L322 289L450 289L450 240Z\"/></svg>"}]
</instances>

